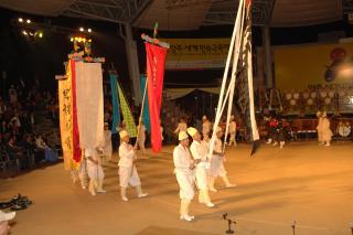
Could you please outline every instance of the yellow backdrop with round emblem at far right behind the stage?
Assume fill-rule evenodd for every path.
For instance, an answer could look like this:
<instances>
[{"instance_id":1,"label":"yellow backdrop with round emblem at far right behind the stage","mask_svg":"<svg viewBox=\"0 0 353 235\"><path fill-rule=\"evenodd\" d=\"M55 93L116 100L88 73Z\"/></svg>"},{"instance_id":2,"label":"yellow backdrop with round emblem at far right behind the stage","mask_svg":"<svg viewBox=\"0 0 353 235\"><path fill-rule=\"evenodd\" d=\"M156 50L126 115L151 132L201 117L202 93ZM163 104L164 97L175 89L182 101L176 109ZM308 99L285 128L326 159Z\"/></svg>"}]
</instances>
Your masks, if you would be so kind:
<instances>
[{"instance_id":1,"label":"yellow backdrop with round emblem at far right behind the stage","mask_svg":"<svg viewBox=\"0 0 353 235\"><path fill-rule=\"evenodd\" d=\"M336 84L352 86L353 43L278 46L276 86L282 90Z\"/></svg>"}]
</instances>

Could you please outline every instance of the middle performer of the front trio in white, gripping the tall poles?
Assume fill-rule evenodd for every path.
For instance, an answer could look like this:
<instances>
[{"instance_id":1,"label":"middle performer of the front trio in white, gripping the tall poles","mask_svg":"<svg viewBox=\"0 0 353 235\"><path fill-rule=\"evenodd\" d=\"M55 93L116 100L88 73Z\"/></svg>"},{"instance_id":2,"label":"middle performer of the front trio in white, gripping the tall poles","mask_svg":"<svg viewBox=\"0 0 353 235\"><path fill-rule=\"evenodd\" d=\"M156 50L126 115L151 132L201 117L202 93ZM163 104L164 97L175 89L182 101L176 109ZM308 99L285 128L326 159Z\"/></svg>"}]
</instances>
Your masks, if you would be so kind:
<instances>
[{"instance_id":1,"label":"middle performer of the front trio in white, gripping the tall poles","mask_svg":"<svg viewBox=\"0 0 353 235\"><path fill-rule=\"evenodd\" d=\"M207 148L205 145L201 143L201 135L195 128L188 128L188 133L193 138L193 141L190 146L190 151L195 164L196 185L199 189L199 202L205 204L208 207L213 207L214 204L211 202L208 194L208 180L206 172L207 169L210 169L210 162L207 159Z\"/></svg>"}]
</instances>

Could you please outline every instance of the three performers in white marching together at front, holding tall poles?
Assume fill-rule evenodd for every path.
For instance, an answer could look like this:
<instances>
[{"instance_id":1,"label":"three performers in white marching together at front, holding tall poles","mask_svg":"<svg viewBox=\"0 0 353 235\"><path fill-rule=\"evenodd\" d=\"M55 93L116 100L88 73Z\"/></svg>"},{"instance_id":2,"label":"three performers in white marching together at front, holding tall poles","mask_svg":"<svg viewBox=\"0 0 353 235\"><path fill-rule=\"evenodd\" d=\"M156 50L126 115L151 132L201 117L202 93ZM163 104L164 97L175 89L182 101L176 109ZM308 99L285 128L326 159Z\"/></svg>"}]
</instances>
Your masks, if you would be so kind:
<instances>
[{"instance_id":1,"label":"three performers in white marching together at front, holding tall poles","mask_svg":"<svg viewBox=\"0 0 353 235\"><path fill-rule=\"evenodd\" d=\"M175 167L174 173L180 186L180 220L190 222L194 218L194 216L189 214L189 206L194 197L194 184L196 184L199 190L199 202L207 207L214 206L208 191L217 191L214 188L217 177L222 177L226 188L234 186L228 181L223 163L225 160L221 140L223 130L218 127L215 131L216 140L211 157L208 156L208 135L203 132L202 140L200 132L193 127L179 131L179 145L174 148L173 161ZM190 137L192 138L192 143L189 149Z\"/></svg>"}]
</instances>

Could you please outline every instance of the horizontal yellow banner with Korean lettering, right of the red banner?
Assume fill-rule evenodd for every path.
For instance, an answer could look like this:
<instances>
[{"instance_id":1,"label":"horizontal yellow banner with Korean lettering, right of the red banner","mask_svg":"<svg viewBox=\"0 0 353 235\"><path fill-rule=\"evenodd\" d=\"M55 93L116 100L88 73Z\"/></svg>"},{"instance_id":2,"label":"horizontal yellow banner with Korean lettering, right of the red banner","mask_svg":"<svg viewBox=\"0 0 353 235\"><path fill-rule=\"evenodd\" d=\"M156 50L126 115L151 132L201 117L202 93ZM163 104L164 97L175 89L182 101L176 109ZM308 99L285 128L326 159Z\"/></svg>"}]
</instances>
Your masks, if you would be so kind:
<instances>
[{"instance_id":1,"label":"horizontal yellow banner with Korean lettering, right of the red banner","mask_svg":"<svg viewBox=\"0 0 353 235\"><path fill-rule=\"evenodd\" d=\"M163 39L170 43L165 70L223 68L231 39Z\"/></svg>"}]
</instances>

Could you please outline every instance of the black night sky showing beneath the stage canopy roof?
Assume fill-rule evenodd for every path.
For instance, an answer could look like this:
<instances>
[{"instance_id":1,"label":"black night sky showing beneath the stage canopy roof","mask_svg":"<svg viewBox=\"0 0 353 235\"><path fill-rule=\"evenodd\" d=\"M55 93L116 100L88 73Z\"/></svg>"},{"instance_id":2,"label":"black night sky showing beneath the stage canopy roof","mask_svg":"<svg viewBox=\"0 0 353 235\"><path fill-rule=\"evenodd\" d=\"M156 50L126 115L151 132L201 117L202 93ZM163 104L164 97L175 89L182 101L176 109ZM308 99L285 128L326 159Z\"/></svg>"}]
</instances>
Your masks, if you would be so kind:
<instances>
[{"instance_id":1,"label":"black night sky showing beneath the stage canopy roof","mask_svg":"<svg viewBox=\"0 0 353 235\"><path fill-rule=\"evenodd\" d=\"M41 23L50 21L52 25L71 28L73 32L82 25L92 28L94 30L94 55L106 57L107 63L104 65L106 68L110 63L114 63L124 86L129 87L125 44L118 35L117 24L63 17L33 17L0 8L0 71L8 72L7 86L12 83L9 79L15 81L23 77L25 82L31 83L36 76L44 87L54 90L56 87L54 75L64 73L63 61L66 60L66 55L72 50L68 33L44 31L42 40L26 39L21 34L19 28L11 24L11 20L15 20L18 17L28 17L32 21ZM227 38L231 36L232 30L233 25L203 26L197 31L160 32L160 38ZM330 31L344 31L347 36L353 34L352 25L344 20L315 26L271 29L271 42L275 45L317 42L318 33ZM145 70L143 44L139 38L142 32L152 34L151 30L133 30L133 35L138 42L141 71ZM253 28L255 45L261 45L261 29ZM200 83L200 81L215 83L215 78L221 77L222 74L223 70L167 72L165 83ZM3 86L3 83L1 86Z\"/></svg>"}]
</instances>

